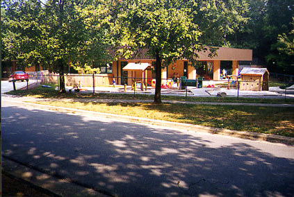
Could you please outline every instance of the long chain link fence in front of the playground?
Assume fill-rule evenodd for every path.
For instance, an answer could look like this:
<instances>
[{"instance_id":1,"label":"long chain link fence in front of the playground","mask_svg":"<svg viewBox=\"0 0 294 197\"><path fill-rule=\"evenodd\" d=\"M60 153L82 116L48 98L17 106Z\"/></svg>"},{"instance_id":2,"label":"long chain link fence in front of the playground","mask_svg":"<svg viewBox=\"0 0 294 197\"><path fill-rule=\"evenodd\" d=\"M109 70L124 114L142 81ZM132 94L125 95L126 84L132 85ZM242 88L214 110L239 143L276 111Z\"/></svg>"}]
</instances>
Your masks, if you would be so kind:
<instances>
[{"instance_id":1,"label":"long chain link fence in front of the playground","mask_svg":"<svg viewBox=\"0 0 294 197\"><path fill-rule=\"evenodd\" d=\"M37 83L54 84L59 87L59 74L49 71L28 72L30 80ZM123 83L123 84L122 84ZM111 92L132 92L133 94L154 94L154 78L117 77L113 74L65 74L67 89L88 89L88 92L106 92L105 88L115 87ZM101 90L102 89L102 90ZM182 96L276 96L277 98L291 98L294 95L294 83L291 78L279 83L260 80L240 80L227 78L225 80L195 80L184 77L162 78L161 92L165 95ZM294 97L293 97L294 98Z\"/></svg>"}]
</instances>

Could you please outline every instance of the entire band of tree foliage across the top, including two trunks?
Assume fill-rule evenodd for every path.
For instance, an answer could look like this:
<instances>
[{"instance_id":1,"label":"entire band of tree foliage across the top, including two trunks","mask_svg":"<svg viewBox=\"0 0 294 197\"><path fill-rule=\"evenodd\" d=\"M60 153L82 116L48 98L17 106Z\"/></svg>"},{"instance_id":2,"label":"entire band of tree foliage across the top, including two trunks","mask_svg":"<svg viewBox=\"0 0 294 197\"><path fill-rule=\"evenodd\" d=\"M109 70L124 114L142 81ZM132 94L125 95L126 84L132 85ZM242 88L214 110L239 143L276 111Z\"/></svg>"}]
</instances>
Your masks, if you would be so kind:
<instances>
[{"instance_id":1,"label":"entire band of tree foliage across the top, including two trunks","mask_svg":"<svg viewBox=\"0 0 294 197\"><path fill-rule=\"evenodd\" d=\"M1 59L60 73L68 65L132 58L140 49L161 67L178 59L195 64L211 46L254 49L270 71L292 72L294 0L1 0ZM114 42L115 40L115 42ZM157 84L160 85L160 82ZM160 103L160 88L156 87Z\"/></svg>"}]
</instances>

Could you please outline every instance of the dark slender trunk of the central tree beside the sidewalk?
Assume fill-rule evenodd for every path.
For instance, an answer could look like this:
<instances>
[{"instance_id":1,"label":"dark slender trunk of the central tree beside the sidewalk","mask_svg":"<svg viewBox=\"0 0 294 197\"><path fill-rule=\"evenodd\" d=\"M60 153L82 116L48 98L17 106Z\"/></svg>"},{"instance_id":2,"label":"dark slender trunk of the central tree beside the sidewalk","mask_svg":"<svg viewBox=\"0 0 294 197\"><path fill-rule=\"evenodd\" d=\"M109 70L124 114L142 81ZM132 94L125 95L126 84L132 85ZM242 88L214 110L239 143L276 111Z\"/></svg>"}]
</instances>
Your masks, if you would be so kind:
<instances>
[{"instance_id":1,"label":"dark slender trunk of the central tree beside the sidewalk","mask_svg":"<svg viewBox=\"0 0 294 197\"><path fill-rule=\"evenodd\" d=\"M154 103L161 103L161 58L159 57L159 51L156 51L156 86L155 86L155 95L154 95Z\"/></svg>"}]
</instances>

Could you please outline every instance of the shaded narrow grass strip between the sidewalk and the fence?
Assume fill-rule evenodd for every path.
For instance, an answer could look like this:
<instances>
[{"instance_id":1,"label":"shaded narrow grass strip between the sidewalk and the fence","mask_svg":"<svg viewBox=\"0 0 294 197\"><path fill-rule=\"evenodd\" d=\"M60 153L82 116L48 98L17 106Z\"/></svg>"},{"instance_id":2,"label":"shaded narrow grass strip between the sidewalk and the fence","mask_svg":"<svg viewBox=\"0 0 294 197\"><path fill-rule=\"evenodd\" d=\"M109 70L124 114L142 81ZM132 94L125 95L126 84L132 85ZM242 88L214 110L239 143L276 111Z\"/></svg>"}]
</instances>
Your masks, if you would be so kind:
<instances>
[{"instance_id":1,"label":"shaded narrow grass strip between the sidewalk and the fence","mask_svg":"<svg viewBox=\"0 0 294 197\"><path fill-rule=\"evenodd\" d=\"M148 94L60 94L55 90L55 86L51 84L51 88L36 87L28 90L17 90L19 96L33 96L35 98L49 98L49 99L135 99L135 100L154 100L154 95ZM14 92L8 92L6 94L15 94ZM168 101L192 101L192 102L216 102L216 103L288 103L294 104L294 99L260 99L260 98L245 98L239 97L192 97L188 96L161 96L162 100Z\"/></svg>"}]
</instances>

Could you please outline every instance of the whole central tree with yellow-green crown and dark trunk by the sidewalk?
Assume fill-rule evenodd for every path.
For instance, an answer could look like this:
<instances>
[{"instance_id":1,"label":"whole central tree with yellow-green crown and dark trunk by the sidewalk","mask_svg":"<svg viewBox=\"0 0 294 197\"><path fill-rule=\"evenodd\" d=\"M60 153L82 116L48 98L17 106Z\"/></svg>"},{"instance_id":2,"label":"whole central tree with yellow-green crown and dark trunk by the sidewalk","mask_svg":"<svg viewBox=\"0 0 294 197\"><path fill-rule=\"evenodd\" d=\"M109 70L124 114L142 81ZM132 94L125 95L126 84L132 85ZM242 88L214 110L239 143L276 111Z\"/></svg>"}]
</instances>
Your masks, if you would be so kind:
<instances>
[{"instance_id":1,"label":"whole central tree with yellow-green crown and dark trunk by the sidewalk","mask_svg":"<svg viewBox=\"0 0 294 197\"><path fill-rule=\"evenodd\" d=\"M120 2L117 2L120 3ZM156 59L156 92L154 103L161 103L161 68L180 58L196 62L196 51L205 48L199 42L197 24L193 23L190 8L180 1L123 1L117 4L117 55L131 58L139 49Z\"/></svg>"}]
</instances>

